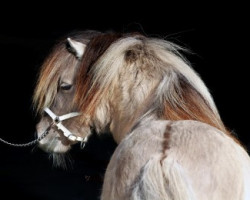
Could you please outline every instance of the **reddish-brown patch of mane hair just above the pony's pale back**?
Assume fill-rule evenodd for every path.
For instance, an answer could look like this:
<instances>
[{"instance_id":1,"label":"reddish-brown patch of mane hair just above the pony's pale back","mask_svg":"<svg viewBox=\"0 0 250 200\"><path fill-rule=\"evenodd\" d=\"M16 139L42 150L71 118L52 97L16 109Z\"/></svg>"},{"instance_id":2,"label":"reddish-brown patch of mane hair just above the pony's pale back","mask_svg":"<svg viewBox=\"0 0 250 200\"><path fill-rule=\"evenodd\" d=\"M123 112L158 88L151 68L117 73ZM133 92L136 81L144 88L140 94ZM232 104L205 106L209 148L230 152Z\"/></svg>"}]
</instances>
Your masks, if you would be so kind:
<instances>
[{"instance_id":1,"label":"reddish-brown patch of mane hair just above the pony's pale back","mask_svg":"<svg viewBox=\"0 0 250 200\"><path fill-rule=\"evenodd\" d=\"M223 122L214 113L204 97L182 74L177 73L177 76L181 90L173 88L173 91L179 93L175 95L178 98L178 104L165 101L161 116L167 120L196 120L204 122L228 133Z\"/></svg>"}]
</instances>

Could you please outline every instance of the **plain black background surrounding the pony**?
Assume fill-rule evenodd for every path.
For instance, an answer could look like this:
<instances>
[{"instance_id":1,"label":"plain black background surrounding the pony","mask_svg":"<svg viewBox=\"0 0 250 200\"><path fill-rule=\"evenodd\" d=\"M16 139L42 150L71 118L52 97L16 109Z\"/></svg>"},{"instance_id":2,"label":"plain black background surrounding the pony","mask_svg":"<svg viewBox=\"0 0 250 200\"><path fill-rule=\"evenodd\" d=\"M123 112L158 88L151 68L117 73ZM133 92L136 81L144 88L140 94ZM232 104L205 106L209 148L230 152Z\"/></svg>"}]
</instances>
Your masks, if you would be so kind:
<instances>
[{"instance_id":1,"label":"plain black background surrounding the pony","mask_svg":"<svg viewBox=\"0 0 250 200\"><path fill-rule=\"evenodd\" d=\"M120 2L111 7L68 2L64 8L27 6L32 7L1 7L6 11L0 16L2 138L16 143L34 138L31 98L43 59L62 35L94 29L140 31L190 49L192 53L185 56L210 89L222 120L250 148L249 16L245 5L166 2L136 7ZM110 136L94 135L84 150L72 149L74 162L63 170L54 168L48 155L36 147L0 144L1 195L8 196L1 199L97 199L114 148Z\"/></svg>"}]
</instances>

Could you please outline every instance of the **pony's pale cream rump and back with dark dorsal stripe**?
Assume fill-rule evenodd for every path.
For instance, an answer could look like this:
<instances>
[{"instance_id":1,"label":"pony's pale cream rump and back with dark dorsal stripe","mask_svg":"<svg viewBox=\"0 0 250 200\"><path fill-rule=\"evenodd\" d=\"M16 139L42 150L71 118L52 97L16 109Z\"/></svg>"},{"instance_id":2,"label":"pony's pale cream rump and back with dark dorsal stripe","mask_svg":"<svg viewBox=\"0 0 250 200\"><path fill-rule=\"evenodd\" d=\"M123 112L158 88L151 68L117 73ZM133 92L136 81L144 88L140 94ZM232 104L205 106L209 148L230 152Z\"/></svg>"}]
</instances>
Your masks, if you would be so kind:
<instances>
[{"instance_id":1,"label":"pony's pale cream rump and back with dark dorsal stripe","mask_svg":"<svg viewBox=\"0 0 250 200\"><path fill-rule=\"evenodd\" d=\"M146 120L115 150L102 199L249 199L249 169L244 149L210 125Z\"/></svg>"}]
</instances>

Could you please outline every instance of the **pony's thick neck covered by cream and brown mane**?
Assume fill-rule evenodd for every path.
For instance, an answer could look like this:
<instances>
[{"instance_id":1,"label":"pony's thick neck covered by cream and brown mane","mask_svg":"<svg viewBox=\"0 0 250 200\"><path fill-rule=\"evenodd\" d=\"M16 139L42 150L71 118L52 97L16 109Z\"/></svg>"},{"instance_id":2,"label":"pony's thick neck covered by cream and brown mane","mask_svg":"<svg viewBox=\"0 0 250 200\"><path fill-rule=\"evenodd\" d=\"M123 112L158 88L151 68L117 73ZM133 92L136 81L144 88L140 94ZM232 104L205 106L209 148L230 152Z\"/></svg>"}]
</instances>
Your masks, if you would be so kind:
<instances>
[{"instance_id":1,"label":"pony's thick neck covered by cream and brown mane","mask_svg":"<svg viewBox=\"0 0 250 200\"><path fill-rule=\"evenodd\" d=\"M227 132L207 87L180 50L140 34L93 38L77 76L75 104L87 116L83 126L109 130L118 143L149 117L197 120Z\"/></svg>"}]
</instances>

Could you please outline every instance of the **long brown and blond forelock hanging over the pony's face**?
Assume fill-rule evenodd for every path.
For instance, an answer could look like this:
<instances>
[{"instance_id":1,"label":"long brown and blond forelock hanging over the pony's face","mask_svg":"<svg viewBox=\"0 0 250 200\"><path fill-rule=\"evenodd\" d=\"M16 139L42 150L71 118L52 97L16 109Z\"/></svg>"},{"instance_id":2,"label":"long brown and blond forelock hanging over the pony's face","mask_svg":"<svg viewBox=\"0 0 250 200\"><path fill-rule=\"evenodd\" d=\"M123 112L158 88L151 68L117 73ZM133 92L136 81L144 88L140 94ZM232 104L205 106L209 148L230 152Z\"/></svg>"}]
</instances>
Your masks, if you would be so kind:
<instances>
[{"instance_id":1,"label":"long brown and blond forelock hanging over the pony's face","mask_svg":"<svg viewBox=\"0 0 250 200\"><path fill-rule=\"evenodd\" d=\"M92 30L77 31L71 32L58 40L40 69L33 95L33 104L37 113L41 113L45 106L49 106L53 102L62 72L69 65L76 65L79 62L67 49L67 38L70 37L73 40L86 44L92 37L99 34L101 33Z\"/></svg>"}]
</instances>

